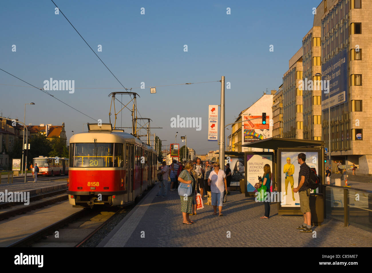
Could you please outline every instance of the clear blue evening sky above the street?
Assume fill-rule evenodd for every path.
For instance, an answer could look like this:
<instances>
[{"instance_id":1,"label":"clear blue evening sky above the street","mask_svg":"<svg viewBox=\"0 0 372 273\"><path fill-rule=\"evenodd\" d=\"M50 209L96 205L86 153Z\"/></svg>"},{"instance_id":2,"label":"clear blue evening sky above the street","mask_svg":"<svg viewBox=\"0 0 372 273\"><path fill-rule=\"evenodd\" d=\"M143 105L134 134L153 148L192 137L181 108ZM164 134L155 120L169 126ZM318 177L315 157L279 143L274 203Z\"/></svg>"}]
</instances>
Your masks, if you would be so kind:
<instances>
[{"instance_id":1,"label":"clear blue evening sky above the street","mask_svg":"<svg viewBox=\"0 0 372 273\"><path fill-rule=\"evenodd\" d=\"M220 103L220 83L158 87L156 94L150 94L149 87L225 76L231 83L231 89L226 89L225 120L231 123L266 88L278 89L289 58L312 27L312 8L320 2L55 0L126 88L138 88L145 82L146 89L133 91L140 95L137 108L141 117L151 118L152 127L163 127L151 133L169 145L178 131L181 146L179 136L186 134L187 146L197 153L218 149L216 142L206 139L208 105ZM141 7L145 15L140 14ZM231 15L226 14L227 7ZM1 1L0 68L40 88L49 78L75 80L73 94L49 92L90 117L108 122L108 94L123 90L89 88L121 85L63 15L54 14L54 8L50 0ZM13 44L16 52L12 52ZM102 52L97 52L98 44ZM183 51L185 44L187 52ZM269 52L270 44L274 52ZM35 102L26 108L26 124L64 122L68 139L71 131L80 132L83 124L94 122L36 88L7 86L26 84L1 70L0 84L4 117L23 121L24 104ZM128 101L129 96L123 97L123 102ZM122 124L129 127L130 112L123 111ZM201 117L202 130L171 128L170 118L177 114ZM120 116L117 123L120 126Z\"/></svg>"}]
</instances>

